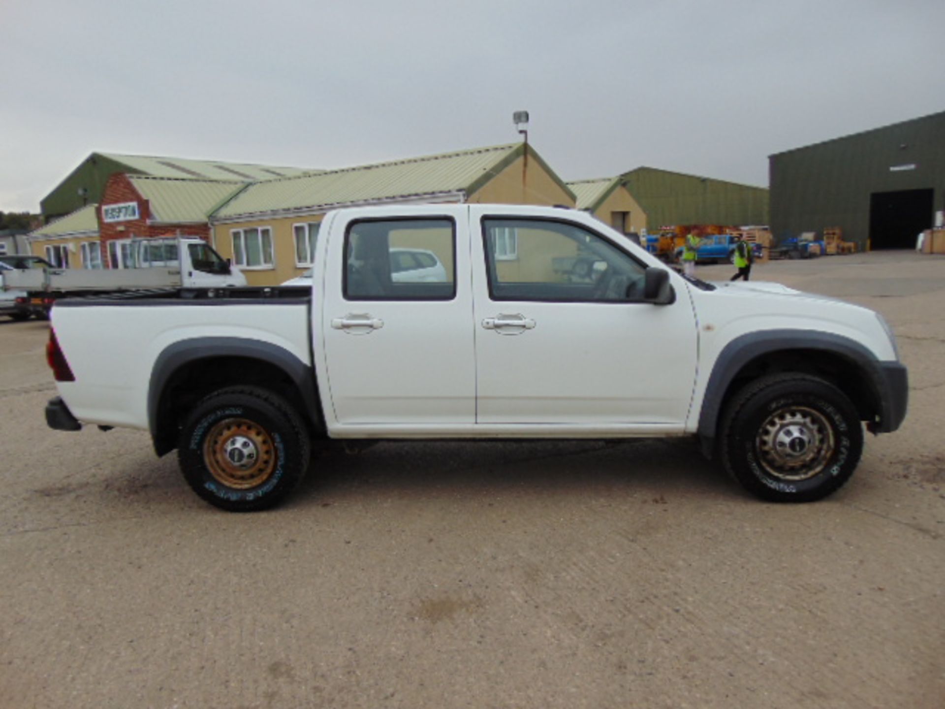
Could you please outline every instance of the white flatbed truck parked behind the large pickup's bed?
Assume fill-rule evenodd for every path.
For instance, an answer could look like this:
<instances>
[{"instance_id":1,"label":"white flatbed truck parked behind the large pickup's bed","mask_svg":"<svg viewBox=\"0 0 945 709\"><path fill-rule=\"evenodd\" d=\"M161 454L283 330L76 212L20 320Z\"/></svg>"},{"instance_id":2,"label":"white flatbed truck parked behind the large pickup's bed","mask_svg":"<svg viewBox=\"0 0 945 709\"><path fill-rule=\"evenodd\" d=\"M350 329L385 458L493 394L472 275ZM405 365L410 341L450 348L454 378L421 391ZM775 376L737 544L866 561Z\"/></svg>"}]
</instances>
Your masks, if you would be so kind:
<instances>
[{"instance_id":1,"label":"white flatbed truck parked behind the large pickup's bed","mask_svg":"<svg viewBox=\"0 0 945 709\"><path fill-rule=\"evenodd\" d=\"M246 276L196 236L127 239L117 268L29 268L10 271L3 290L28 294L29 311L45 317L61 298L126 290L219 288L246 285ZM28 317L28 316L27 316Z\"/></svg>"}]
</instances>

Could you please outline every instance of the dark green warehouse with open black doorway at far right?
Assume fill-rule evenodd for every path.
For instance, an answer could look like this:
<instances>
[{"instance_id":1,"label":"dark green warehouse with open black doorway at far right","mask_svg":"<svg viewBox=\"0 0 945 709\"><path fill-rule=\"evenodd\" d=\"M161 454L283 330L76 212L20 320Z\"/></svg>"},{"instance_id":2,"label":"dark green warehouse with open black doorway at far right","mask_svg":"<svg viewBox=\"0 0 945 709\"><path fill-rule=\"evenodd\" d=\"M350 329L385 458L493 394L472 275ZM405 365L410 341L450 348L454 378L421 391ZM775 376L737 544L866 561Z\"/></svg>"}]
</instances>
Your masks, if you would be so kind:
<instances>
[{"instance_id":1,"label":"dark green warehouse with open black doorway at far right","mask_svg":"<svg viewBox=\"0 0 945 709\"><path fill-rule=\"evenodd\" d=\"M768 161L777 239L839 228L861 250L909 249L945 211L945 112Z\"/></svg>"}]
</instances>

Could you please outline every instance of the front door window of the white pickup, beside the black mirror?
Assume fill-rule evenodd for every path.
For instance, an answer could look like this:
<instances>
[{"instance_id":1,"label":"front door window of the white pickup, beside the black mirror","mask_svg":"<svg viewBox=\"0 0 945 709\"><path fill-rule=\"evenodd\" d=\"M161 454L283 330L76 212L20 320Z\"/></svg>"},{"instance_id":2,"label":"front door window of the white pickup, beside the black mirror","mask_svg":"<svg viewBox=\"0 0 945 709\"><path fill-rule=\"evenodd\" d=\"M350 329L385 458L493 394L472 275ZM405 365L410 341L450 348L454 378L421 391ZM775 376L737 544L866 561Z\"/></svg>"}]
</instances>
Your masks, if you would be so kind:
<instances>
[{"instance_id":1,"label":"front door window of the white pickup, beside the black mirror","mask_svg":"<svg viewBox=\"0 0 945 709\"><path fill-rule=\"evenodd\" d=\"M487 218L483 233L492 300L607 303L643 294L645 267L576 224ZM513 259L504 257L510 233Z\"/></svg>"}]
</instances>

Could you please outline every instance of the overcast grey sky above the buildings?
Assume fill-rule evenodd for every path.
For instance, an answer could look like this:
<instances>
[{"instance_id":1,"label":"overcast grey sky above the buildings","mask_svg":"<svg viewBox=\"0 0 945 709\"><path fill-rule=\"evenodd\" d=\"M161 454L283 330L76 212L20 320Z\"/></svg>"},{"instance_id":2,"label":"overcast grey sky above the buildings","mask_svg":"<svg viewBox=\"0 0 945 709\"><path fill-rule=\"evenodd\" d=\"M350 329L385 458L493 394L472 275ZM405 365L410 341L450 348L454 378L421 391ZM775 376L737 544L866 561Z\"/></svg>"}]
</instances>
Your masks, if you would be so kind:
<instances>
[{"instance_id":1,"label":"overcast grey sky above the buildings","mask_svg":"<svg viewBox=\"0 0 945 709\"><path fill-rule=\"evenodd\" d=\"M529 141L565 180L767 184L945 110L942 0L0 0L0 210L94 150L341 167Z\"/></svg>"}]
</instances>

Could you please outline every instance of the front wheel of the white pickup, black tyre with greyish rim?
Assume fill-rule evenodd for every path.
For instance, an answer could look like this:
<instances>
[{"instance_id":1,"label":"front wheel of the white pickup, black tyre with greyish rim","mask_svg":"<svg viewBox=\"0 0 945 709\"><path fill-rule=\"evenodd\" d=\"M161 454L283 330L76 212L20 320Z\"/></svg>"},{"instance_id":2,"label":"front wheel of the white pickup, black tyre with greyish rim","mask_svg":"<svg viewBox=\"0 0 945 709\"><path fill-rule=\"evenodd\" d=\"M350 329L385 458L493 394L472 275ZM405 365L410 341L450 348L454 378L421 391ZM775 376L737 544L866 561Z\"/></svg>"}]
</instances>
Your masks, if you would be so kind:
<instances>
[{"instance_id":1,"label":"front wheel of the white pickup, black tyre with greyish rim","mask_svg":"<svg viewBox=\"0 0 945 709\"><path fill-rule=\"evenodd\" d=\"M726 407L719 459L750 493L775 502L811 502L839 489L863 453L856 407L816 376L765 376Z\"/></svg>"}]
</instances>

